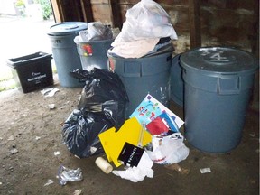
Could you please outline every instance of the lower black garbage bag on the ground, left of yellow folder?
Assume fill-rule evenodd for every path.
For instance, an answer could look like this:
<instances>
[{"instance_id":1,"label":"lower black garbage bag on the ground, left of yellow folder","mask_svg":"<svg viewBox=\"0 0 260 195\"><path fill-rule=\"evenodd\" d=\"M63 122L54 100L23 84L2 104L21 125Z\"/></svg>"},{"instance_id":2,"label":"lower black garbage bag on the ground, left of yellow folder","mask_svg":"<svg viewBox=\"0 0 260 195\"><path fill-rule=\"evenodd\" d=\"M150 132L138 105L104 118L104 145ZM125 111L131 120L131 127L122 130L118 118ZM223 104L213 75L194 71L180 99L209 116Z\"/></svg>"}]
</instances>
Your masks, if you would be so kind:
<instances>
[{"instance_id":1,"label":"lower black garbage bag on the ground, left of yellow folder","mask_svg":"<svg viewBox=\"0 0 260 195\"><path fill-rule=\"evenodd\" d=\"M84 158L99 153L104 149L98 134L111 128L112 123L100 113L74 109L62 128L62 137L70 153Z\"/></svg>"}]
</instances>

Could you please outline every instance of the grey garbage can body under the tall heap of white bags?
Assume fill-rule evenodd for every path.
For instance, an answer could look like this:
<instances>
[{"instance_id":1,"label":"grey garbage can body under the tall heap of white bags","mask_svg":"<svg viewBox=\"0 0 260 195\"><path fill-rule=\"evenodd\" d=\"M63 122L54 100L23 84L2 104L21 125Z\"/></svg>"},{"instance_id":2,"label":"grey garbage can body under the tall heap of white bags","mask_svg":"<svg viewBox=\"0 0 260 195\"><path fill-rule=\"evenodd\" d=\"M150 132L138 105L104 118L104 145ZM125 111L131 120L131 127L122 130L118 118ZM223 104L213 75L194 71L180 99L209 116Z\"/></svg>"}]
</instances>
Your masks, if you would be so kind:
<instances>
[{"instance_id":1,"label":"grey garbage can body under the tall heap of white bags","mask_svg":"<svg viewBox=\"0 0 260 195\"><path fill-rule=\"evenodd\" d=\"M127 117L134 112L148 93L165 107L170 106L172 51L171 44L165 51L136 59L115 57L107 51L109 69L119 75L129 98Z\"/></svg>"}]
</instances>

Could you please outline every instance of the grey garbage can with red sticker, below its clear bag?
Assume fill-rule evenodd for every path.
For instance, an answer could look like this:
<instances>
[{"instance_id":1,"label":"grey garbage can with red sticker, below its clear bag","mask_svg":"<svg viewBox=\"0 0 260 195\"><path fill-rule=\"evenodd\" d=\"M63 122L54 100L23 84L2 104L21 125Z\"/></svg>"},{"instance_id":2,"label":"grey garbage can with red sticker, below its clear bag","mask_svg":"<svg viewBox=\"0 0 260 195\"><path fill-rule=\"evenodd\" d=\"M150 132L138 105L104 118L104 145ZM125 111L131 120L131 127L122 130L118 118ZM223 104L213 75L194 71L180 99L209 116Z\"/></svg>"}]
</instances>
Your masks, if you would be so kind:
<instances>
[{"instance_id":1,"label":"grey garbage can with red sticker, below its clear bag","mask_svg":"<svg viewBox=\"0 0 260 195\"><path fill-rule=\"evenodd\" d=\"M114 39L75 42L83 70L107 69L107 50Z\"/></svg>"}]
</instances>

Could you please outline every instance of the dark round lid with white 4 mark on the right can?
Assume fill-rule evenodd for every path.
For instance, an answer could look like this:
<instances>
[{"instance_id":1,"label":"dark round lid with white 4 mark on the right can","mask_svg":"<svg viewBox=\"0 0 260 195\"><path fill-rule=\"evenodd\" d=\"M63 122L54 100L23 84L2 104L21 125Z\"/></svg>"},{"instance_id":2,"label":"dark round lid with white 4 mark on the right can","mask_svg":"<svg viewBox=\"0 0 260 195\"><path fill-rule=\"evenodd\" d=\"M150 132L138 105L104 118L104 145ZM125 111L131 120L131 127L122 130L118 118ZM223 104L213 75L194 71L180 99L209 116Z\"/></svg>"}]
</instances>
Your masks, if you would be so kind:
<instances>
[{"instance_id":1,"label":"dark round lid with white 4 mark on the right can","mask_svg":"<svg viewBox=\"0 0 260 195\"><path fill-rule=\"evenodd\" d=\"M255 57L231 47L201 47L181 55L181 67L201 73L253 72L258 69Z\"/></svg>"}]
</instances>

